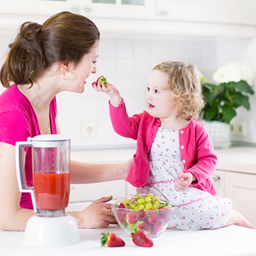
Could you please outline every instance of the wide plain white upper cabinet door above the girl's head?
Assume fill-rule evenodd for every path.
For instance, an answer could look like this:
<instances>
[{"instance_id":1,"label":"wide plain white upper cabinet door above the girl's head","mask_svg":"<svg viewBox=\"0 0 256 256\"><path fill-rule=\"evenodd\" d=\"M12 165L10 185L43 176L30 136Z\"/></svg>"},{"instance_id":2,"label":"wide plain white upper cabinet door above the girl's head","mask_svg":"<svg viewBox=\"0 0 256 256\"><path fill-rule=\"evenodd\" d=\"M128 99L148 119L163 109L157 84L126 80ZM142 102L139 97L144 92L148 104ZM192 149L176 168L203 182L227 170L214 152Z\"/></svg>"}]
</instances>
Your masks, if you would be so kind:
<instances>
[{"instance_id":1,"label":"wide plain white upper cabinet door above the girl's head","mask_svg":"<svg viewBox=\"0 0 256 256\"><path fill-rule=\"evenodd\" d=\"M241 0L158 0L159 20L241 24Z\"/></svg>"}]
</instances>

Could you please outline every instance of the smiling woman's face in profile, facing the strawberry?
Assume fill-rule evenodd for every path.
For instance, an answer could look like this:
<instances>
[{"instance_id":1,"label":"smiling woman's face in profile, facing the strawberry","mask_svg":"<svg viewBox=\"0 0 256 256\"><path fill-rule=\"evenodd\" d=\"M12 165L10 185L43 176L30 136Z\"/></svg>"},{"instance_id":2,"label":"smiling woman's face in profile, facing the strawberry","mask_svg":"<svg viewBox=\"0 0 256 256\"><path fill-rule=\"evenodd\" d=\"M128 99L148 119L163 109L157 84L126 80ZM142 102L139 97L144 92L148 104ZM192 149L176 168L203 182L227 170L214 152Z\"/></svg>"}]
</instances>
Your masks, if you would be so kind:
<instances>
[{"instance_id":1,"label":"smiling woman's face in profile, facing the strawberry","mask_svg":"<svg viewBox=\"0 0 256 256\"><path fill-rule=\"evenodd\" d=\"M73 64L70 65L68 68L70 77L65 81L65 84L67 84L67 90L78 93L84 92L86 79L90 77L91 73L96 73L96 59L98 56L99 43L97 42L90 52L82 57L77 66L74 66Z\"/></svg>"}]
</instances>

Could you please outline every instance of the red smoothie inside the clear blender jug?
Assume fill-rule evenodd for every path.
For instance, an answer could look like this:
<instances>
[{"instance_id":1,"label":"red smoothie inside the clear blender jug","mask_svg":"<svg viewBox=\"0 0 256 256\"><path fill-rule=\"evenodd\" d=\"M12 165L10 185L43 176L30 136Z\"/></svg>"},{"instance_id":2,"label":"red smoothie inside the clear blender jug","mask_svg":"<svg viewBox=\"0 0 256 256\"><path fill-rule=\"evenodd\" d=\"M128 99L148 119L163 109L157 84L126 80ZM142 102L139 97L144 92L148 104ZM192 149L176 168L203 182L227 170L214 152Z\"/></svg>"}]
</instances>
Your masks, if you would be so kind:
<instances>
[{"instance_id":1,"label":"red smoothie inside the clear blender jug","mask_svg":"<svg viewBox=\"0 0 256 256\"><path fill-rule=\"evenodd\" d=\"M33 173L33 187L39 209L65 209L70 193L70 173Z\"/></svg>"}]
</instances>

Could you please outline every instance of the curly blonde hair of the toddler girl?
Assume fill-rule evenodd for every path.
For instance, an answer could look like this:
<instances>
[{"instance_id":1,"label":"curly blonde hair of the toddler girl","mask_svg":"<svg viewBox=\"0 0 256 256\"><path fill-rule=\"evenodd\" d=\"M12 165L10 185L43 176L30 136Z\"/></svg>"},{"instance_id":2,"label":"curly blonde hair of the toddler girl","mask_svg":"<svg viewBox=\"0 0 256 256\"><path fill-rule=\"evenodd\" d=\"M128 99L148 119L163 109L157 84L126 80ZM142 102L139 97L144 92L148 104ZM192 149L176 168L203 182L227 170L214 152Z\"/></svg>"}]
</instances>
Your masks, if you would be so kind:
<instances>
[{"instance_id":1,"label":"curly blonde hair of the toddler girl","mask_svg":"<svg viewBox=\"0 0 256 256\"><path fill-rule=\"evenodd\" d=\"M172 108L177 118L197 119L205 102L201 93L201 82L197 68L190 63L181 61L166 61L155 66L168 76L168 86L171 91Z\"/></svg>"}]
</instances>

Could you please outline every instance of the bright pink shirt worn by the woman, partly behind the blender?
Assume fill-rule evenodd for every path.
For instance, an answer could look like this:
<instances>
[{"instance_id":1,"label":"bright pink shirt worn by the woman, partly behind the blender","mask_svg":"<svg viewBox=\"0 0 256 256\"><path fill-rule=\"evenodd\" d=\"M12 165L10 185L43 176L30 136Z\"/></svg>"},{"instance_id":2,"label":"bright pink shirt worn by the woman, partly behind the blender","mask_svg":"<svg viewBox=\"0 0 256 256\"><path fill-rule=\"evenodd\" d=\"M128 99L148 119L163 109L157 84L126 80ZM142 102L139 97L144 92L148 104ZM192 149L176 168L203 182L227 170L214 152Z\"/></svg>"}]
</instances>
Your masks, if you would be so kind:
<instances>
[{"instance_id":1,"label":"bright pink shirt worn by the woman, partly behind the blender","mask_svg":"<svg viewBox=\"0 0 256 256\"><path fill-rule=\"evenodd\" d=\"M56 134L55 116L57 113L55 98L49 104L51 132ZM0 142L15 146L16 142L25 142L27 137L40 135L38 118L31 103L18 90L16 84L0 95ZM32 150L26 152L26 182L32 186ZM6 170L8 172L8 170ZM29 193L22 193L20 207L32 209Z\"/></svg>"}]
</instances>

